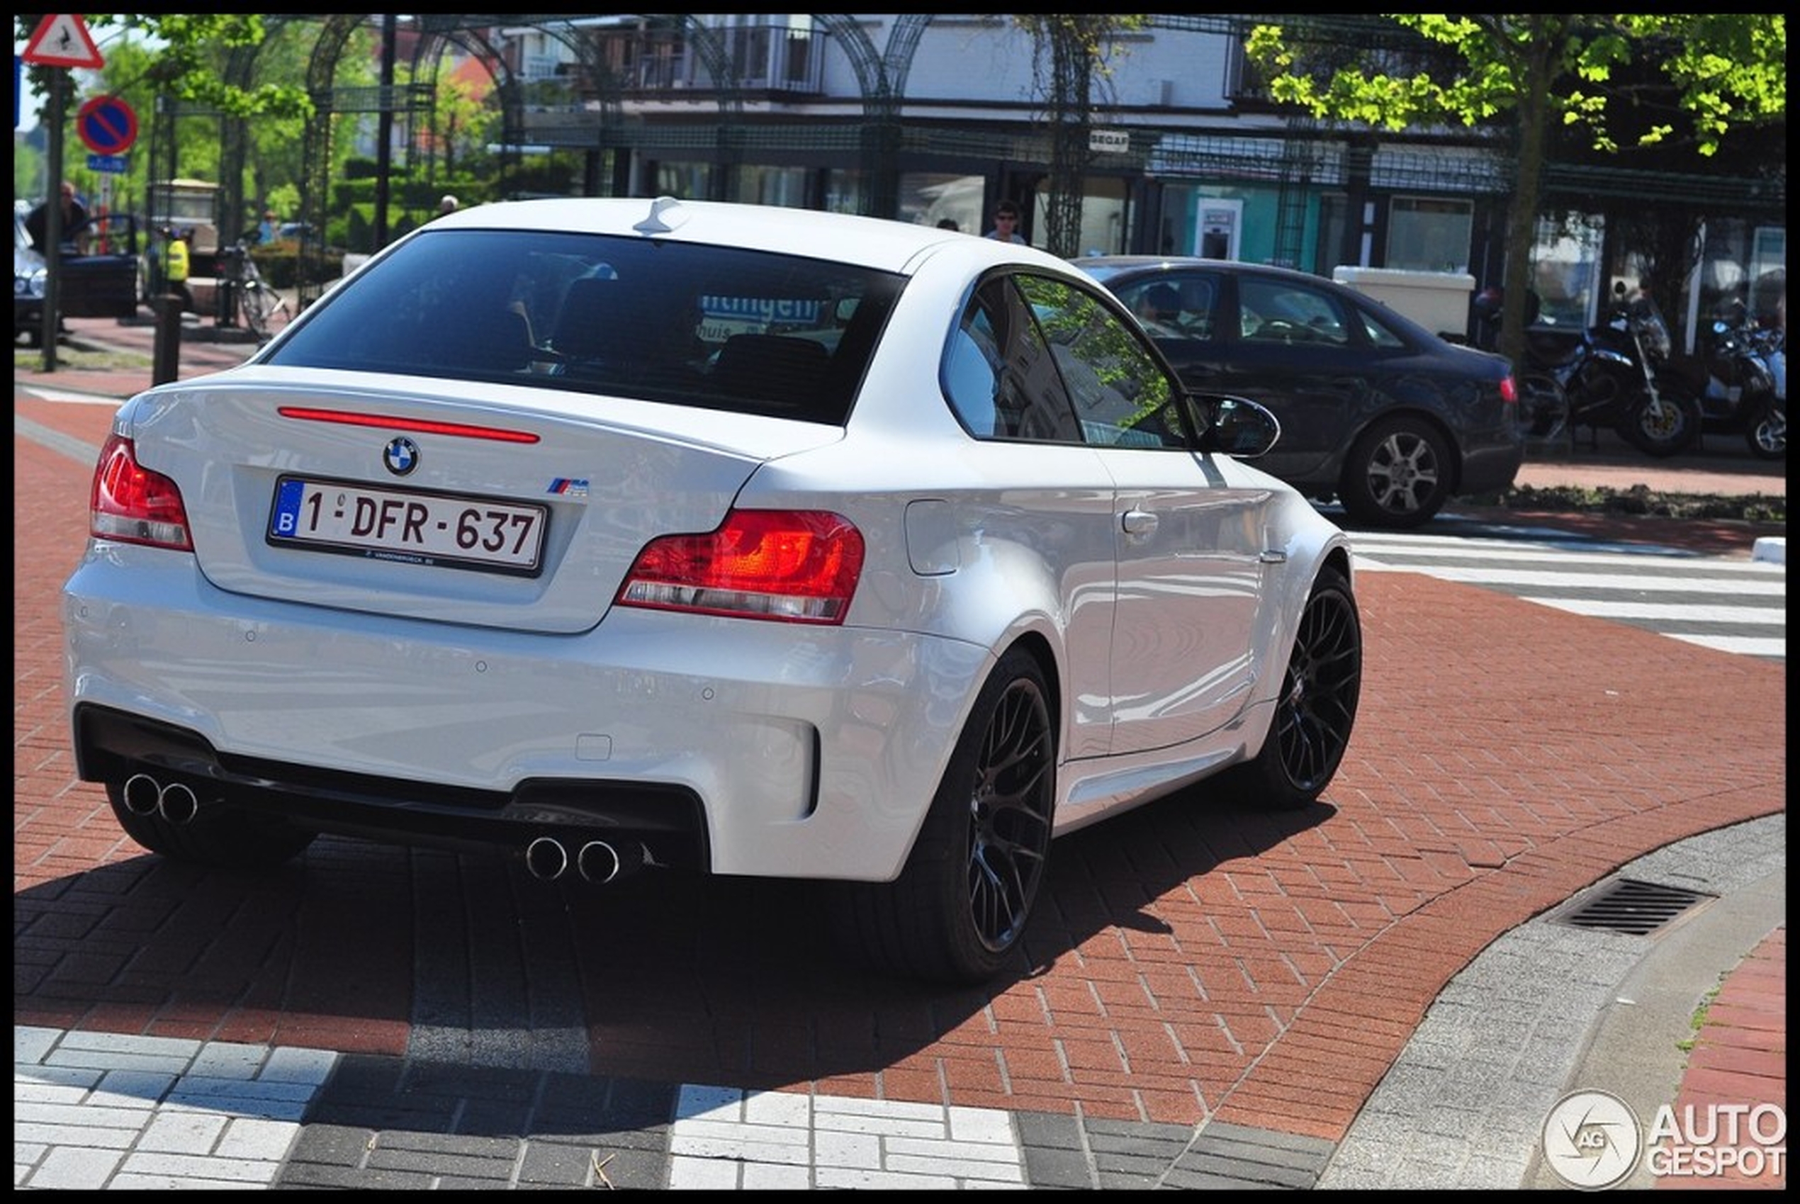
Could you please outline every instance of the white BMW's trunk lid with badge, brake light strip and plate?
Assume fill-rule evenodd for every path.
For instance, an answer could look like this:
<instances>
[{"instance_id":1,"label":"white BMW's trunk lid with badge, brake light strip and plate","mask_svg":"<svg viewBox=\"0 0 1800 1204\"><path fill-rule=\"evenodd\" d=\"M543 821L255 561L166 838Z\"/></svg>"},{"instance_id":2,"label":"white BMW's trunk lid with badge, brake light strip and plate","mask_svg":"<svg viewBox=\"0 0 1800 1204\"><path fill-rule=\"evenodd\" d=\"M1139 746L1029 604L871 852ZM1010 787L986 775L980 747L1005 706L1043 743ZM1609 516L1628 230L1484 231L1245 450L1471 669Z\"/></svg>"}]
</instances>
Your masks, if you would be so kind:
<instances>
[{"instance_id":1,"label":"white BMW's trunk lid with badge, brake light strip and plate","mask_svg":"<svg viewBox=\"0 0 1800 1204\"><path fill-rule=\"evenodd\" d=\"M288 603L520 632L599 623L643 545L715 529L841 428L540 387L245 367L137 398L200 571Z\"/></svg>"}]
</instances>

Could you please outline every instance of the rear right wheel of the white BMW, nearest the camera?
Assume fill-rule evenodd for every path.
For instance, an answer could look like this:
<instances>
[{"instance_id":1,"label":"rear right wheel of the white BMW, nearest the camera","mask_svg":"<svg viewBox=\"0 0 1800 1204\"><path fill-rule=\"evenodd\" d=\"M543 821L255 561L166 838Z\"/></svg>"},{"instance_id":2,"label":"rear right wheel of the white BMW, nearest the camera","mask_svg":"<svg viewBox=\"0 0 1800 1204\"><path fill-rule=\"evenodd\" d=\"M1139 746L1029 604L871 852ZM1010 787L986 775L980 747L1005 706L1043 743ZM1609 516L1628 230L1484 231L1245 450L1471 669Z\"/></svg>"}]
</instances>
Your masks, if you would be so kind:
<instances>
[{"instance_id":1,"label":"rear right wheel of the white BMW, nearest the camera","mask_svg":"<svg viewBox=\"0 0 1800 1204\"><path fill-rule=\"evenodd\" d=\"M1044 671L1012 650L981 687L893 882L844 884L844 952L934 983L992 979L1015 956L1049 860L1057 734Z\"/></svg>"}]
</instances>

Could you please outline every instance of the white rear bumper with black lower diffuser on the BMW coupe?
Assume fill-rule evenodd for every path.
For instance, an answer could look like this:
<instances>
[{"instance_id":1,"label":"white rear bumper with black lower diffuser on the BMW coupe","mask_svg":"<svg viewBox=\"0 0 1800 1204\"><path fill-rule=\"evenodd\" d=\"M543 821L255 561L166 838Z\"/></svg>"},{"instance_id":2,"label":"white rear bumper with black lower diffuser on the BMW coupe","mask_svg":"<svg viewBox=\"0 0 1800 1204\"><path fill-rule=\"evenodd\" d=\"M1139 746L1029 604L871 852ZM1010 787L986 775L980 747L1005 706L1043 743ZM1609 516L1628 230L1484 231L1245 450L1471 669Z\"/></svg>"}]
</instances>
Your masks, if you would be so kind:
<instances>
[{"instance_id":1,"label":"white rear bumper with black lower diffuser on the BMW coupe","mask_svg":"<svg viewBox=\"0 0 1800 1204\"><path fill-rule=\"evenodd\" d=\"M85 779L187 758L232 804L423 844L650 813L698 828L702 867L770 876L896 875L988 668L940 637L650 610L580 635L364 615L117 544L63 626Z\"/></svg>"}]
</instances>

